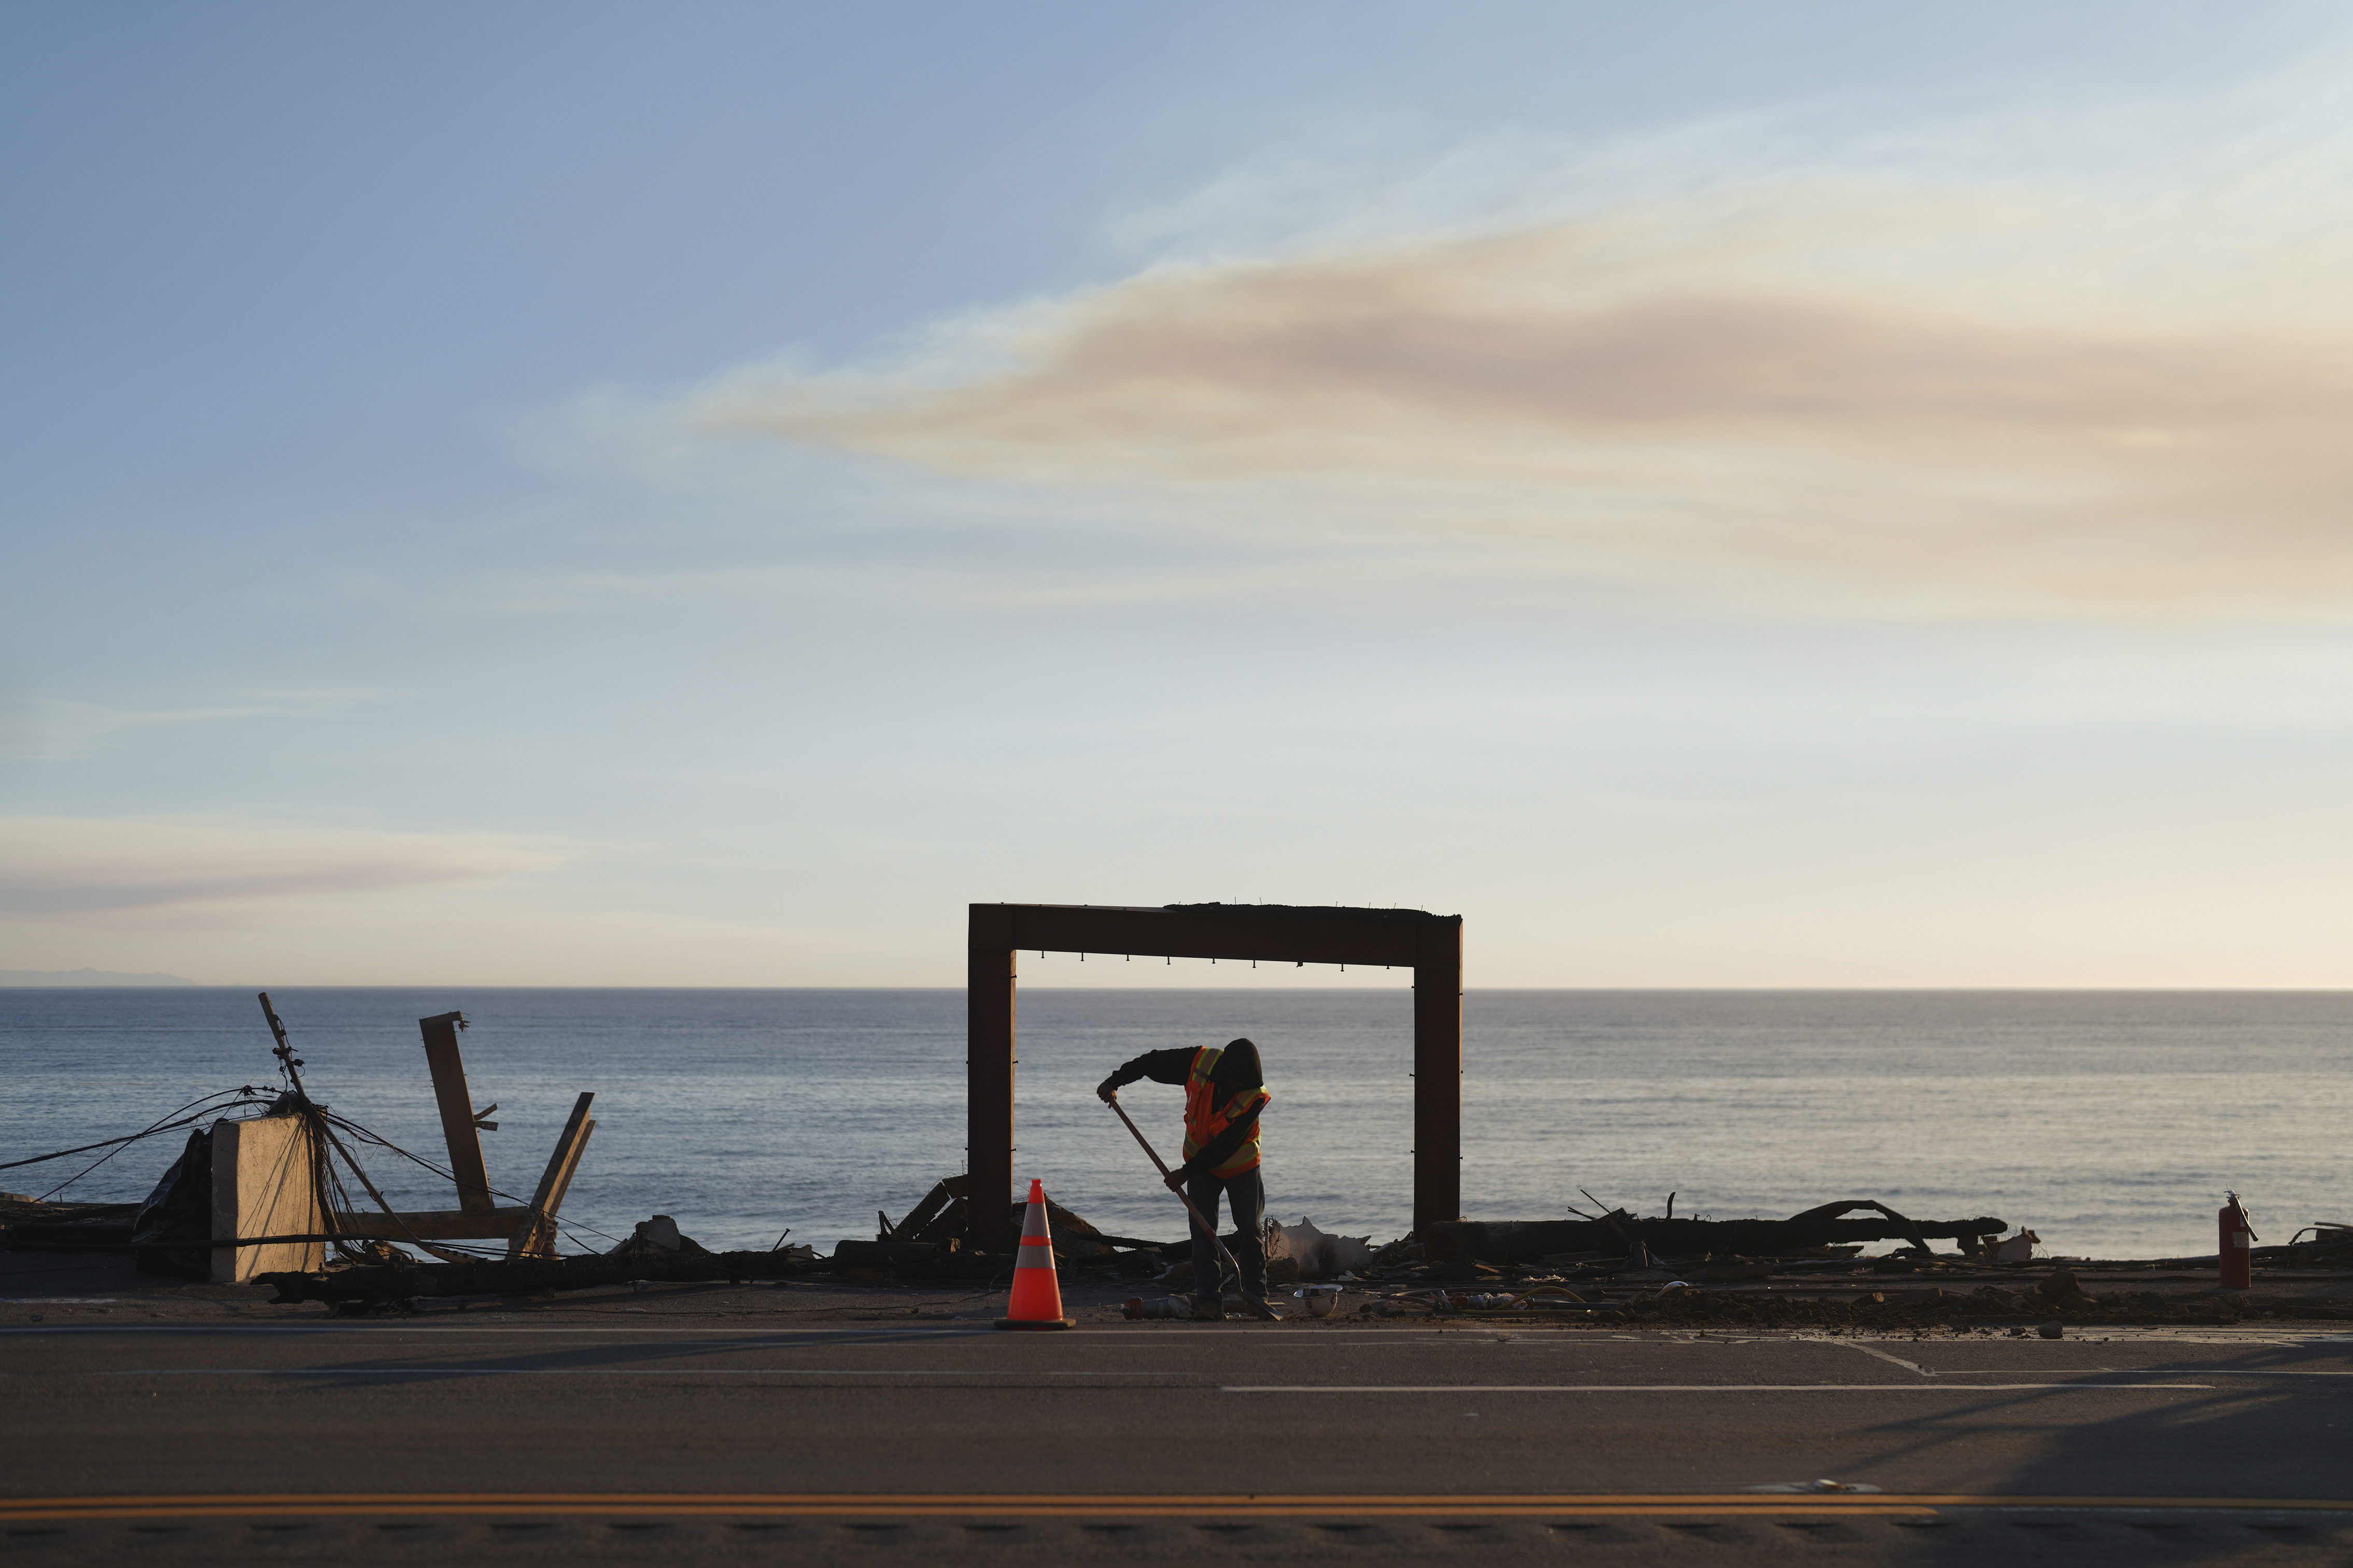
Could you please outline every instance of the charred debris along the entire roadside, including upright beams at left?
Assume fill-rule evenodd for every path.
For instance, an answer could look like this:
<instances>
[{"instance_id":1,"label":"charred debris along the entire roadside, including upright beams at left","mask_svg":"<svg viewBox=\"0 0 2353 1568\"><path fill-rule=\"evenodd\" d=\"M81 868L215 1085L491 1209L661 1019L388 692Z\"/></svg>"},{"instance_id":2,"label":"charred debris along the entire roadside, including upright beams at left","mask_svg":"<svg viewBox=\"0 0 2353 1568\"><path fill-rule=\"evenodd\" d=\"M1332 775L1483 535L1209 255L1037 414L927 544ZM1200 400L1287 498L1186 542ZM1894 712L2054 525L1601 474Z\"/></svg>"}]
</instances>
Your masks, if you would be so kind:
<instances>
[{"instance_id":1,"label":"charred debris along the entire roadside, including upright beams at left","mask_svg":"<svg viewBox=\"0 0 2353 1568\"><path fill-rule=\"evenodd\" d=\"M280 1302L336 1312L414 1307L449 1298L546 1298L619 1284L835 1279L868 1288L995 1286L1012 1258L976 1251L969 1178L929 1187L899 1220L875 1215L875 1237L835 1244L831 1255L788 1246L715 1253L654 1215L631 1237L581 1232L560 1215L595 1131L593 1093L581 1093L532 1197L492 1185L480 1131L496 1105L475 1110L459 1053L464 1013L419 1020L449 1164L398 1147L313 1100L285 1023L261 994L280 1084L238 1086L193 1100L148 1128L80 1150L12 1161L35 1166L92 1154L61 1182L151 1138L186 1133L179 1157L141 1204L59 1204L0 1192L0 1251L129 1253L141 1269L275 1286ZM247 1112L231 1117L228 1112ZM355 1150L407 1159L452 1182L456 1206L400 1211ZM52 1190L56 1192L56 1190ZM2214 1255L2139 1262L2035 1258L2038 1237L1993 1215L1915 1220L1873 1199L1819 1204L1786 1220L1633 1215L1579 1194L1591 1211L1565 1220L1452 1220L1386 1246L1327 1234L1301 1220L1268 1225L1268 1281L1327 1316L1513 1316L1697 1328L1871 1326L1984 1328L2038 1324L2238 1321L2242 1316L2353 1316L2353 1307L2271 1300L2252 1291L2181 1291L2212 1284ZM501 1201L504 1199L504 1201ZM1007 1201L1019 1227L1021 1204ZM1191 1291L1191 1246L1104 1234L1049 1204L1054 1262L1073 1284ZM558 1255L558 1237L584 1253ZM593 1239L591 1239L593 1237ZM1899 1246L1861 1258L1871 1244ZM487 1246L485 1246L487 1244ZM602 1246L612 1244L612 1246ZM1939 1251L1946 1244L1948 1251ZM2306 1227L2285 1246L2254 1248L2266 1284L2353 1272L2353 1227ZM2146 1286L2172 1281L2174 1293ZM1136 1298L1134 1316L1160 1312Z\"/></svg>"}]
</instances>

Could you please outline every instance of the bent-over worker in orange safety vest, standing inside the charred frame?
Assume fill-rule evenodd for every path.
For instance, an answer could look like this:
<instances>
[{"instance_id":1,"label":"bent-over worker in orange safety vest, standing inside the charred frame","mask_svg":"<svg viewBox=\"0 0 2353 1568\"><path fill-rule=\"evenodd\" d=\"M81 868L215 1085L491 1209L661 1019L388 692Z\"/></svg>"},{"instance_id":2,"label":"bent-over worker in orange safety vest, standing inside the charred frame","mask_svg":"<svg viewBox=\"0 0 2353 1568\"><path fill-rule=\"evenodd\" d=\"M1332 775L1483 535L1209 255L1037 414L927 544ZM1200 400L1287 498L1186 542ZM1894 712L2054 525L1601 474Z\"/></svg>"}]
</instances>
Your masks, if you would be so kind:
<instances>
[{"instance_id":1,"label":"bent-over worker in orange safety vest, standing inside the charred frame","mask_svg":"<svg viewBox=\"0 0 2353 1568\"><path fill-rule=\"evenodd\" d=\"M1247 1039L1186 1051L1146 1051L1125 1063L1094 1093L1108 1105L1120 1084L1151 1079L1184 1084L1184 1164L1169 1171L1169 1192L1193 1199L1193 1316L1221 1321L1226 1302L1219 1291L1217 1197L1233 1208L1233 1260L1242 1269L1242 1291L1266 1300L1266 1182L1259 1178L1259 1112L1266 1110L1266 1077L1259 1048Z\"/></svg>"}]
</instances>

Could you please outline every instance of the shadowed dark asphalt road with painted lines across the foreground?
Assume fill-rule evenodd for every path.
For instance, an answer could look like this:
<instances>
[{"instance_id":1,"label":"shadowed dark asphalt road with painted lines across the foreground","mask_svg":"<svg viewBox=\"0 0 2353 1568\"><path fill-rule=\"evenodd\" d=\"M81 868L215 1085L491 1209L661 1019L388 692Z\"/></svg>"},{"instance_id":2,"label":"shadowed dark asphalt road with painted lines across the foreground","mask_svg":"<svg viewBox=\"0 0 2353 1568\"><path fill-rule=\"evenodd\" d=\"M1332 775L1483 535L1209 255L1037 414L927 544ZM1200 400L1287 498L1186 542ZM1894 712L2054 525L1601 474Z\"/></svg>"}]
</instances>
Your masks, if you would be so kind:
<instances>
[{"instance_id":1,"label":"shadowed dark asphalt road with painted lines across the foreground","mask_svg":"<svg viewBox=\"0 0 2353 1568\"><path fill-rule=\"evenodd\" d=\"M12 1563L2346 1561L2348 1352L2287 1331L38 1324L0 1328L0 1528ZM1755 1490L1819 1479L1878 1490Z\"/></svg>"}]
</instances>

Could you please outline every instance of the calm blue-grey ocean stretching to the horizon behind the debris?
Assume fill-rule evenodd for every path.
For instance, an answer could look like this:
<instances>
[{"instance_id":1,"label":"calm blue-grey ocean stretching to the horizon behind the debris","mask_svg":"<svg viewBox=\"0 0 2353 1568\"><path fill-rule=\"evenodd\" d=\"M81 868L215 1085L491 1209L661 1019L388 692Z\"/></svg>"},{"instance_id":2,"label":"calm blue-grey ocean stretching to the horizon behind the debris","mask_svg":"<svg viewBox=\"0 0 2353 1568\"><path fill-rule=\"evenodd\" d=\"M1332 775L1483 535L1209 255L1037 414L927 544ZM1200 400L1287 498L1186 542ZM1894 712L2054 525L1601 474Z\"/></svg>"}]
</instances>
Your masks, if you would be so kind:
<instances>
[{"instance_id":1,"label":"calm blue-grey ocean stretching to the horizon behind the debris","mask_svg":"<svg viewBox=\"0 0 2353 1568\"><path fill-rule=\"evenodd\" d=\"M464 1009L492 1182L527 1199L572 1098L598 1131L569 1248L649 1213L713 1248L871 1237L965 1168L960 990L280 990L311 1093L445 1164L416 1018ZM1101 1229L1181 1237L1184 1211L1094 1084L1160 1046L1259 1041L1268 1208L1386 1241L1412 1225L1412 1025L1395 990L1021 992L1016 1173ZM1579 1190L1635 1213L1788 1215L1880 1199L2000 1215L2049 1251L2209 1253L2235 1187L2264 1241L2353 1220L2353 994L2341 992L1471 992L1464 1211L1560 1218ZM273 1084L254 997L0 990L0 1161L136 1131ZM1122 1103L1162 1154L1181 1093ZM129 1145L61 1197L144 1197L181 1135ZM94 1157L0 1171L47 1192ZM395 1204L452 1187L362 1152Z\"/></svg>"}]
</instances>

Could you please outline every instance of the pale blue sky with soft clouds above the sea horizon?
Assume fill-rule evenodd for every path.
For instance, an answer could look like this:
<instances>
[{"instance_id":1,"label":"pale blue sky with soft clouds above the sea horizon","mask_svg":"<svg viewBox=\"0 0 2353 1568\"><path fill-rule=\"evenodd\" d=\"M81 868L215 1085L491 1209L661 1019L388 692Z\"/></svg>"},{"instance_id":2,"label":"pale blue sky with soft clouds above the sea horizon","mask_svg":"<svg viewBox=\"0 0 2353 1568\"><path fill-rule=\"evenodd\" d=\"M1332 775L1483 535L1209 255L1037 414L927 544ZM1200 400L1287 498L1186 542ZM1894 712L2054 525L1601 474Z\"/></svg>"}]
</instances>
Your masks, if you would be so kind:
<instances>
[{"instance_id":1,"label":"pale blue sky with soft clouds above the sea horizon","mask_svg":"<svg viewBox=\"0 0 2353 1568\"><path fill-rule=\"evenodd\" d=\"M0 969L2353 985L2348 106L2287 0L5 5Z\"/></svg>"}]
</instances>

